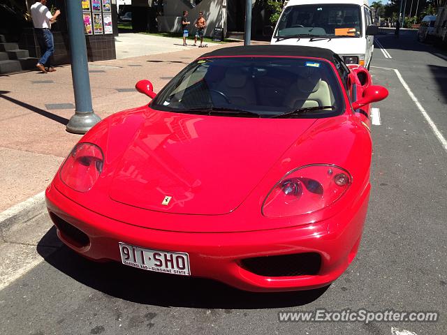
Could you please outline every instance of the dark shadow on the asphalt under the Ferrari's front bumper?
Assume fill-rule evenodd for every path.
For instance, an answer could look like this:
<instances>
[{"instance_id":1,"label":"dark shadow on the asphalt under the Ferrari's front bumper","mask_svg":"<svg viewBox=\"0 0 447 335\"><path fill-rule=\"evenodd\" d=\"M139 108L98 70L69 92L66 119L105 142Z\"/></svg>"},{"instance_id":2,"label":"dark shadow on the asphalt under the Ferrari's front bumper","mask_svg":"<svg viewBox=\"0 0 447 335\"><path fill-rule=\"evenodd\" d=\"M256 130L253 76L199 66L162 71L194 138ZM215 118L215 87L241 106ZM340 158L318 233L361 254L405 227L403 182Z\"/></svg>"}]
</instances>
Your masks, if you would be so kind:
<instances>
[{"instance_id":1,"label":"dark shadow on the asphalt under the Ferrari's front bumper","mask_svg":"<svg viewBox=\"0 0 447 335\"><path fill-rule=\"evenodd\" d=\"M54 239L57 234L53 227L37 246L38 253L47 263L90 288L138 304L223 309L284 308L309 304L329 287L298 292L244 292L205 278L156 274L117 262L92 262L67 246L46 255L45 245Z\"/></svg>"}]
</instances>

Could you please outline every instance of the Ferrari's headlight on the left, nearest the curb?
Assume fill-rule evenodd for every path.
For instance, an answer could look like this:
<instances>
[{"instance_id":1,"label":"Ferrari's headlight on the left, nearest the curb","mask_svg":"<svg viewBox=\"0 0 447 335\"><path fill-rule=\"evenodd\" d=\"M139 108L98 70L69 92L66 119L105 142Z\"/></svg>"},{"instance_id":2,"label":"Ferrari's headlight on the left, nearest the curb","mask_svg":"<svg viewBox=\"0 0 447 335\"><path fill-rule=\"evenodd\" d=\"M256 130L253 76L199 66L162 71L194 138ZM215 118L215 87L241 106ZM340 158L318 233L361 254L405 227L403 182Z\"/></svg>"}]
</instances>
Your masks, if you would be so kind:
<instances>
[{"instance_id":1,"label":"Ferrari's headlight on the left, nearest the curb","mask_svg":"<svg viewBox=\"0 0 447 335\"><path fill-rule=\"evenodd\" d=\"M103 162L103 151L96 144L76 144L62 165L59 177L73 190L87 192L101 174Z\"/></svg>"}]
</instances>

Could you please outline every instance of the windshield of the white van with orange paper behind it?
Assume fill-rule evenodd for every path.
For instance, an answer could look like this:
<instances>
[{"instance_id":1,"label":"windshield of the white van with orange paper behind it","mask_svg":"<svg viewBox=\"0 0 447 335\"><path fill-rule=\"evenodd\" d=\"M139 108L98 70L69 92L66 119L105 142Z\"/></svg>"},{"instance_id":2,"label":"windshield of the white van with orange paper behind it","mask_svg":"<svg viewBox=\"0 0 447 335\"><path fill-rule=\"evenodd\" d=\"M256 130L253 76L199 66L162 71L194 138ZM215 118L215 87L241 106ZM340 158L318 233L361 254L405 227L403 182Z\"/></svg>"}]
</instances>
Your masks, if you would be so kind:
<instances>
[{"instance_id":1,"label":"windshield of the white van with orange paper behind it","mask_svg":"<svg viewBox=\"0 0 447 335\"><path fill-rule=\"evenodd\" d=\"M289 6L279 19L274 37L360 37L360 13L358 5L339 3Z\"/></svg>"}]
</instances>

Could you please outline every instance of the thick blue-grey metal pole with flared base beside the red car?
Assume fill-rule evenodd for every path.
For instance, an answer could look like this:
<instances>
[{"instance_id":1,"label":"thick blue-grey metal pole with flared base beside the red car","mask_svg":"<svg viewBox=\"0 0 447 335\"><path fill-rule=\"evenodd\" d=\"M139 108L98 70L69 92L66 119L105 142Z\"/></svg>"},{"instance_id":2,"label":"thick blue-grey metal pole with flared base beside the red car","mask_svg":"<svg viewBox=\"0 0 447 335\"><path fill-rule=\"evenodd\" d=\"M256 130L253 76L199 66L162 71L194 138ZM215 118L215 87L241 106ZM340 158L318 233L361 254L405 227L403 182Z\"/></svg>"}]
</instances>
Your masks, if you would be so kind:
<instances>
[{"instance_id":1,"label":"thick blue-grey metal pole with flared base beside the red car","mask_svg":"<svg viewBox=\"0 0 447 335\"><path fill-rule=\"evenodd\" d=\"M68 0L66 8L71 50L71 76L75 93L75 114L68 121L66 130L69 133L85 134L101 119L94 113L91 106L89 66L81 2Z\"/></svg>"}]
</instances>

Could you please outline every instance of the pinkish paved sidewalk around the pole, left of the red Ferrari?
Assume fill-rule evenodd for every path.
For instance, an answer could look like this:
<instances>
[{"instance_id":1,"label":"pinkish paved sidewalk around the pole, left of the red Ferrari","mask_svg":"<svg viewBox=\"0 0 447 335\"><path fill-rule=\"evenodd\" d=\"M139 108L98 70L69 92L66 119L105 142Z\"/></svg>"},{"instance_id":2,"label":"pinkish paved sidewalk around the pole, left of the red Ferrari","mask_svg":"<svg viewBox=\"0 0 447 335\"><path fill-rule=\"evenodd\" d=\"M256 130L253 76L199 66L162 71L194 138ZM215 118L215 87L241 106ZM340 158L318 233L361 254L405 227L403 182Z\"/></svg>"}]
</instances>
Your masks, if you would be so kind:
<instances>
[{"instance_id":1,"label":"pinkish paved sidewalk around the pole, left of the red Ferrari","mask_svg":"<svg viewBox=\"0 0 447 335\"><path fill-rule=\"evenodd\" d=\"M149 102L135 91L138 80L151 80L159 91L201 54L242 45L183 47L176 45L175 38L141 34L122 34L117 39L121 40L117 50L138 57L89 63L93 107L102 119ZM148 55L141 56L142 52ZM74 103L71 66L60 66L54 73L29 71L0 77L0 213L44 191L78 142L80 135L65 130Z\"/></svg>"}]
</instances>

